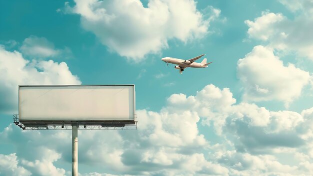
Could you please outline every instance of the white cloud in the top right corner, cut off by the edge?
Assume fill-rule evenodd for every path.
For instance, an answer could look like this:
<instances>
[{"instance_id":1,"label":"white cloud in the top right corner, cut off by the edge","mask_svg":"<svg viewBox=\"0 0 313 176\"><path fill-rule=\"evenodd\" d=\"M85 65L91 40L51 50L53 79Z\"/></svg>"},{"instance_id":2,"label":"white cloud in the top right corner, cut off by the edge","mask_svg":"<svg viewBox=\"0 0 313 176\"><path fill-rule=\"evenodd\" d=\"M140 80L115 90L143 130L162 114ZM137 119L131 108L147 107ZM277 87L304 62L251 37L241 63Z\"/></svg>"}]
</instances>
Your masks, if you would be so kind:
<instances>
[{"instance_id":1,"label":"white cloud in the top right corner, cut off by the edge","mask_svg":"<svg viewBox=\"0 0 313 176\"><path fill-rule=\"evenodd\" d=\"M246 20L247 34L251 39L265 42L282 53L295 52L299 57L313 60L313 3L310 0L281 0L292 12L294 19L288 19L280 13L263 12L254 21Z\"/></svg>"}]
</instances>

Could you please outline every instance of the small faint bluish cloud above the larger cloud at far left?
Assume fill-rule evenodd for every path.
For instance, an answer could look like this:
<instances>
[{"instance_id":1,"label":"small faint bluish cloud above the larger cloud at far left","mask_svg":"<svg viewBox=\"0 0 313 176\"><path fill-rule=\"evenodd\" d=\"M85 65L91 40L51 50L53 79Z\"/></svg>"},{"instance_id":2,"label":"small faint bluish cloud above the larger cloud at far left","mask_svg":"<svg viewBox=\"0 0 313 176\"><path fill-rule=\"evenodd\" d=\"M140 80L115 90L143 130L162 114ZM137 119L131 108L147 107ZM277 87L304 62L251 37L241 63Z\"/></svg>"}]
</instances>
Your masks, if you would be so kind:
<instances>
[{"instance_id":1,"label":"small faint bluish cloud above the larger cloud at far left","mask_svg":"<svg viewBox=\"0 0 313 176\"><path fill-rule=\"evenodd\" d=\"M69 48L55 49L53 43L46 38L36 36L26 38L20 47L20 52L31 58L55 58L60 56L67 58L71 55Z\"/></svg>"}]
</instances>

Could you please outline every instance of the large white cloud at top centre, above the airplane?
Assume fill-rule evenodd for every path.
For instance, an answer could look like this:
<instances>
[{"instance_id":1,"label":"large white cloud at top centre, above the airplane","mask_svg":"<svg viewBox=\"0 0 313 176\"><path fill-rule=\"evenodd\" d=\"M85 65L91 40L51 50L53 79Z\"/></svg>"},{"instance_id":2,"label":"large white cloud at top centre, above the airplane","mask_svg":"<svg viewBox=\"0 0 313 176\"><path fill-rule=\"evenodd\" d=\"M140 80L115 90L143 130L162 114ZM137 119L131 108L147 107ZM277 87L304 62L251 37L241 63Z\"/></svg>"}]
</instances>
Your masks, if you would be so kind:
<instances>
[{"instance_id":1,"label":"large white cloud at top centre, above the airplane","mask_svg":"<svg viewBox=\"0 0 313 176\"><path fill-rule=\"evenodd\" d=\"M65 12L80 15L83 29L94 33L109 50L135 62L168 48L170 39L186 43L202 38L220 14L213 7L198 11L193 0L150 0L147 7L139 0L75 0L74 7L65 4Z\"/></svg>"}]
</instances>

